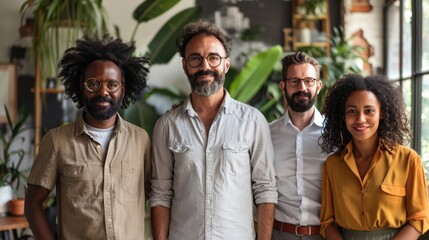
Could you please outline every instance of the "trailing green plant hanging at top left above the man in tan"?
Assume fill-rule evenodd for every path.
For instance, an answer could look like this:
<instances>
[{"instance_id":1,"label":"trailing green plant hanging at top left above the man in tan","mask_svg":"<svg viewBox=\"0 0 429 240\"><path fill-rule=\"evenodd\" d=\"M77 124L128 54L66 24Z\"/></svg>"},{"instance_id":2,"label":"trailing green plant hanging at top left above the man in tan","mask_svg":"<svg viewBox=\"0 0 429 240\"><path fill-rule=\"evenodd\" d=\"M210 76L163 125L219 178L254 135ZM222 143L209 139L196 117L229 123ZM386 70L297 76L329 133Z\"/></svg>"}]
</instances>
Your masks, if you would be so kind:
<instances>
[{"instance_id":1,"label":"trailing green plant hanging at top left above the man in tan","mask_svg":"<svg viewBox=\"0 0 429 240\"><path fill-rule=\"evenodd\" d=\"M33 0L21 5L21 16ZM37 0L33 51L40 64L41 79L57 76L57 63L65 48L82 34L106 32L106 13L102 0ZM63 46L63 45L66 46Z\"/></svg>"}]
</instances>

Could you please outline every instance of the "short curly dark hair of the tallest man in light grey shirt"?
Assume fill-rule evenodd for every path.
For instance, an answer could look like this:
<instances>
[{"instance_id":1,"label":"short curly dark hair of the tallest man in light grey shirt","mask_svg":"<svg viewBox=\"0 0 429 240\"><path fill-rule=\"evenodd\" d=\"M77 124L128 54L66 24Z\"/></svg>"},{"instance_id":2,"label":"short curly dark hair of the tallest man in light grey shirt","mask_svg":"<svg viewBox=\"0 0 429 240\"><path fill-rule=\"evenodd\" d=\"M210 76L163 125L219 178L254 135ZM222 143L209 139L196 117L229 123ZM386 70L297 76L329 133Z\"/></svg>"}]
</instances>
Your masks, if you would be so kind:
<instances>
[{"instance_id":1,"label":"short curly dark hair of the tallest man in light grey shirt","mask_svg":"<svg viewBox=\"0 0 429 240\"><path fill-rule=\"evenodd\" d=\"M226 57L231 54L231 38L229 38L215 24L197 19L188 23L182 30L182 34L177 38L176 45L181 57L185 57L186 46L189 41L198 35L212 35L216 37L225 48Z\"/></svg>"}]
</instances>

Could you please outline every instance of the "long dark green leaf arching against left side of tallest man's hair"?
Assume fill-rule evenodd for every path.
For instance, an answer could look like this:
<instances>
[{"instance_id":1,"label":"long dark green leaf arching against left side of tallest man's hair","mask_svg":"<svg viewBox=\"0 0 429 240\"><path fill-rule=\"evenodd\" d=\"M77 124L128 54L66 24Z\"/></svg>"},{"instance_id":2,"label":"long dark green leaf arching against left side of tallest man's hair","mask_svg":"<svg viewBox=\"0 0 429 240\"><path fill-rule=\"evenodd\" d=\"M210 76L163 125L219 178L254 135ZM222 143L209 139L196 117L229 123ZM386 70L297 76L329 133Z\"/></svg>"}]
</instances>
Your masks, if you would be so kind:
<instances>
[{"instance_id":1,"label":"long dark green leaf arching against left side of tallest man's hair","mask_svg":"<svg viewBox=\"0 0 429 240\"><path fill-rule=\"evenodd\" d=\"M176 38L182 28L190 21L198 18L201 14L200 7L187 8L161 27L155 37L148 45L149 57L152 64L168 63L176 54Z\"/></svg>"}]
</instances>

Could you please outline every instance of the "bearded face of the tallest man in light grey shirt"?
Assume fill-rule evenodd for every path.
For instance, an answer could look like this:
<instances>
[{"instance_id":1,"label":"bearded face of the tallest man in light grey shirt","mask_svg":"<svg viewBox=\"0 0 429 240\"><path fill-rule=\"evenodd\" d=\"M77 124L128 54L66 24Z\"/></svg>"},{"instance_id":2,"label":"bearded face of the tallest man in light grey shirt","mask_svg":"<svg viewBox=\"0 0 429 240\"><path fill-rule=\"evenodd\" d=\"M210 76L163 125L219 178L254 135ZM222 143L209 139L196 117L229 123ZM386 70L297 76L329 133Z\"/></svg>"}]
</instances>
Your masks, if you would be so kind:
<instances>
[{"instance_id":1,"label":"bearded face of the tallest man in light grey shirt","mask_svg":"<svg viewBox=\"0 0 429 240\"><path fill-rule=\"evenodd\" d=\"M219 66L210 66L207 56L211 54L217 54L222 57ZM200 66L190 66L188 58L191 55L202 57ZM230 59L224 57L226 57L225 48L214 36L198 35L189 41L182 65L193 92L200 96L210 96L222 89L225 74L228 72L230 65Z\"/></svg>"}]
</instances>

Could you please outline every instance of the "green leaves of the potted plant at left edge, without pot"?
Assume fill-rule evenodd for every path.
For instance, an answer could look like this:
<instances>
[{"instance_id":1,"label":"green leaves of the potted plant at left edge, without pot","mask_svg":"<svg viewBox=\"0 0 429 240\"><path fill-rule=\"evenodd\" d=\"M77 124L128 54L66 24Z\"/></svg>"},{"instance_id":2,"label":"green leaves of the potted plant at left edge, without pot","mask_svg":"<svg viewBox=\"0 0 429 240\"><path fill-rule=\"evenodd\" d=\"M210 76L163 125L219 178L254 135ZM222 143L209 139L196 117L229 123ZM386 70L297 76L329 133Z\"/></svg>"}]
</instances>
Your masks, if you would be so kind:
<instances>
[{"instance_id":1,"label":"green leaves of the potted plant at left edge, without pot","mask_svg":"<svg viewBox=\"0 0 429 240\"><path fill-rule=\"evenodd\" d=\"M16 141L23 142L24 139L19 139L19 134L27 130L24 128L25 121L29 113L24 113L23 109L18 113L18 119L14 124L9 111L5 106L7 124L6 131L0 131L0 141L3 148L3 155L0 157L0 186L10 185L17 195L17 191L21 184L26 184L25 173L28 170L21 170L21 163L24 159L25 151L23 149L13 150L12 144Z\"/></svg>"}]
</instances>

